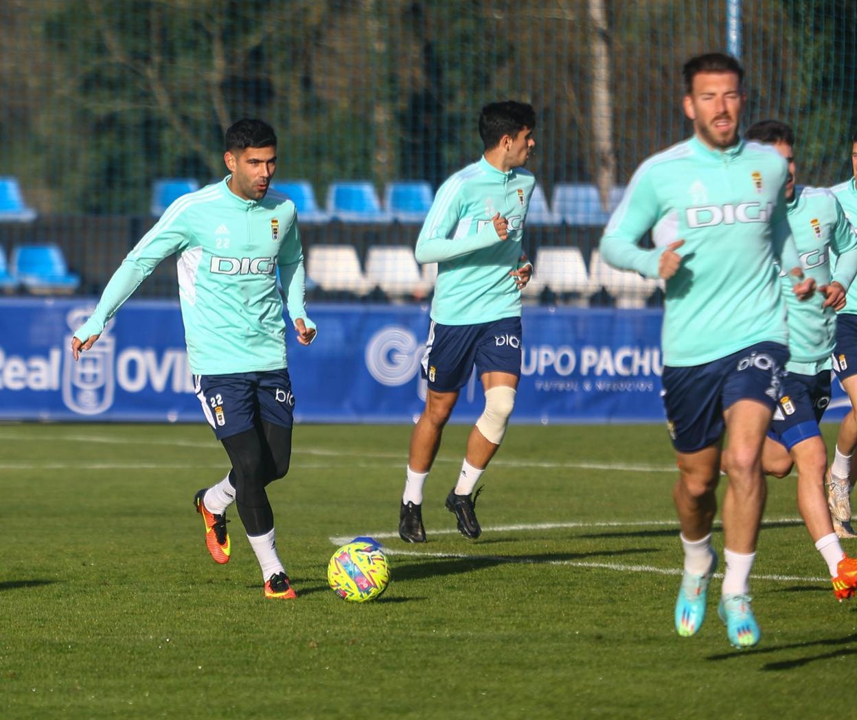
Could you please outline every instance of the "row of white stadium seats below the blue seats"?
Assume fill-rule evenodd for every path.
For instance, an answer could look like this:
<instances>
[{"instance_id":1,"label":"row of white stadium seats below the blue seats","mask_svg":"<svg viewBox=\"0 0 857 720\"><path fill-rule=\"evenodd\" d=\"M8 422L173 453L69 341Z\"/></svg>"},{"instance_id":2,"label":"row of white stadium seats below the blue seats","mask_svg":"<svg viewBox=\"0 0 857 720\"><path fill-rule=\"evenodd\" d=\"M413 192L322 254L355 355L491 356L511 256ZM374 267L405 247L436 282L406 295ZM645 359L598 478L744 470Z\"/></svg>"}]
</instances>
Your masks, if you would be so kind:
<instances>
[{"instance_id":1,"label":"row of white stadium seats below the blue seats","mask_svg":"<svg viewBox=\"0 0 857 720\"><path fill-rule=\"evenodd\" d=\"M407 245L379 245L366 253L365 270L351 245L313 245L307 251L307 274L321 291L347 292L363 297L375 288L388 297L421 298L428 295L437 277L437 265L414 259ZM586 305L602 288L617 307L644 307L662 283L637 273L609 267L593 250L589 267L578 248L544 247L533 262L535 273L524 289L524 297L535 299L548 290L571 303ZM573 296L573 297L571 297Z\"/></svg>"}]
</instances>

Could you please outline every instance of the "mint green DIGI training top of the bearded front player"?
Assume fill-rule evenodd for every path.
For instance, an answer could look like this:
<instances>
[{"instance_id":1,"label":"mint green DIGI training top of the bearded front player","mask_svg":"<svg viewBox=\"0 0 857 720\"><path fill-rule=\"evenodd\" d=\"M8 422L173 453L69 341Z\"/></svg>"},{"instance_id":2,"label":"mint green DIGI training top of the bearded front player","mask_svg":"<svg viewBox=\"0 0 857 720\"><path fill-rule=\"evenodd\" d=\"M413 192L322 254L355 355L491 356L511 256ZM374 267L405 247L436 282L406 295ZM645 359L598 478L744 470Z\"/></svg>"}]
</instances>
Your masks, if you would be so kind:
<instances>
[{"instance_id":1,"label":"mint green DIGI training top of the bearded front player","mask_svg":"<svg viewBox=\"0 0 857 720\"><path fill-rule=\"evenodd\" d=\"M709 363L749 345L788 345L775 259L798 267L786 219L786 161L773 147L739 141L712 150L696 136L652 155L631 178L601 240L604 260L658 278L669 243L684 240L666 283L664 363ZM638 242L653 230L655 249Z\"/></svg>"}]
</instances>

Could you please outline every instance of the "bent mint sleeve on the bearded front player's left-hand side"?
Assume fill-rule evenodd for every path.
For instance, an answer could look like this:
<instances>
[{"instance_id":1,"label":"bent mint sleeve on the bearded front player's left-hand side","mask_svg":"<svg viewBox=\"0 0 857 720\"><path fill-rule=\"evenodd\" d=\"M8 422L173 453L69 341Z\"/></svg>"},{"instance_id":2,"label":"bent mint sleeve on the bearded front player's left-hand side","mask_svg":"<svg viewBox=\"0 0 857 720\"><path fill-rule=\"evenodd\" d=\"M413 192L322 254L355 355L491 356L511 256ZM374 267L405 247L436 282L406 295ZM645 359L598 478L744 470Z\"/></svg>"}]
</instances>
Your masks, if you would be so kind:
<instances>
[{"instance_id":1,"label":"bent mint sleeve on the bearded front player's left-hand side","mask_svg":"<svg viewBox=\"0 0 857 720\"><path fill-rule=\"evenodd\" d=\"M640 166L604 228L601 238L604 261L619 270L636 270L646 278L657 279L658 262L666 248L643 249L638 243L657 222L659 210L650 173Z\"/></svg>"}]
</instances>

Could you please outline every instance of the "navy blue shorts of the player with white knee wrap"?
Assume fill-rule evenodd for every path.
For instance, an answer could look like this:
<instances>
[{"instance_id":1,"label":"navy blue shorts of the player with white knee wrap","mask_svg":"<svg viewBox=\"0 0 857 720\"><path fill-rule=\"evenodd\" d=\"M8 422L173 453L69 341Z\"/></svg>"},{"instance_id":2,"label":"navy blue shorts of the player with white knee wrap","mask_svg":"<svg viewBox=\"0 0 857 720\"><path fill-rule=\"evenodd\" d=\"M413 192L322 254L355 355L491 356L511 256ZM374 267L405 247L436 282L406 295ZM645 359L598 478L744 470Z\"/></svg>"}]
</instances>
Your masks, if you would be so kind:
<instances>
[{"instance_id":1,"label":"navy blue shorts of the player with white knee wrap","mask_svg":"<svg viewBox=\"0 0 857 720\"><path fill-rule=\"evenodd\" d=\"M478 325L440 325L432 321L423 355L423 378L438 393L453 393L489 372L521 375L521 319L506 317Z\"/></svg>"}]
</instances>

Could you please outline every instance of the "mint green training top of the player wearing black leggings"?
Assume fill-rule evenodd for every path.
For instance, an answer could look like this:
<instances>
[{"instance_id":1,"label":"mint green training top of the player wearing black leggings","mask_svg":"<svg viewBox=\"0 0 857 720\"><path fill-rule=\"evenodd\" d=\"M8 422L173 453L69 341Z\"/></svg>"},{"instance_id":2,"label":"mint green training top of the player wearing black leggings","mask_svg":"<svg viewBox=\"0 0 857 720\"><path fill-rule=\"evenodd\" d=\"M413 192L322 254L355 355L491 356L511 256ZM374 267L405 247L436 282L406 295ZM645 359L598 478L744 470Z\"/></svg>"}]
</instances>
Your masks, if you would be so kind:
<instances>
[{"instance_id":1,"label":"mint green training top of the player wearing black leggings","mask_svg":"<svg viewBox=\"0 0 857 720\"><path fill-rule=\"evenodd\" d=\"M243 200L225 177L167 207L107 283L92 317L75 333L102 333L137 286L167 255L176 255L188 362L195 375L287 366L283 299L291 321L315 327L303 305L303 251L294 203L268 190Z\"/></svg>"}]
</instances>

